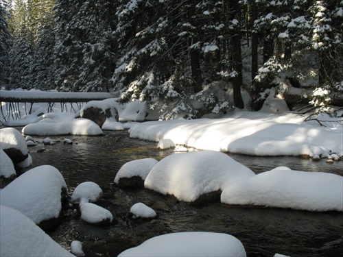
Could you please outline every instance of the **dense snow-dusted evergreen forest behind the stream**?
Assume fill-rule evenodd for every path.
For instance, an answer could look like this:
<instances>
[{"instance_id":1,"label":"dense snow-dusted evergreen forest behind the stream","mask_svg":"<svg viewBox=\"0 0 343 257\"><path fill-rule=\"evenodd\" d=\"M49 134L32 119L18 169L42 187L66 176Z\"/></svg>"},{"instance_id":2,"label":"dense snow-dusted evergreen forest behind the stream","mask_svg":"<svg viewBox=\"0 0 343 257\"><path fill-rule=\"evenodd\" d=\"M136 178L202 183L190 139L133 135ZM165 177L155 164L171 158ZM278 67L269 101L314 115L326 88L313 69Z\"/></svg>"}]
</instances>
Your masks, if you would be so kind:
<instances>
[{"instance_id":1,"label":"dense snow-dusted evergreen forest behind the stream","mask_svg":"<svg viewBox=\"0 0 343 257\"><path fill-rule=\"evenodd\" d=\"M120 93L162 119L274 93L324 107L343 95L342 24L340 0L0 0L0 86Z\"/></svg>"}]
</instances>

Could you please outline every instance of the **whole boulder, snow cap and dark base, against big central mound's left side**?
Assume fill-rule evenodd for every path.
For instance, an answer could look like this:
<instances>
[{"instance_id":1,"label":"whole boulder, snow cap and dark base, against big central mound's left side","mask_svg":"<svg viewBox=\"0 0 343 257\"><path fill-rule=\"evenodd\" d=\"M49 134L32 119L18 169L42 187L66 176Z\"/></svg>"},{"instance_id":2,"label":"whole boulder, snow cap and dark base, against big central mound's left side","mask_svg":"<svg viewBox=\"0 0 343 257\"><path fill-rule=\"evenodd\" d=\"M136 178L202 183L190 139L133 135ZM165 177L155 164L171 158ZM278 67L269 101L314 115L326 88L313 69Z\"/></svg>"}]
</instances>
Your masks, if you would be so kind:
<instances>
[{"instance_id":1,"label":"whole boulder, snow cap and dark base, against big central mound's left side","mask_svg":"<svg viewBox=\"0 0 343 257\"><path fill-rule=\"evenodd\" d=\"M126 162L115 176L115 184L122 188L143 188L147 174L150 173L157 162L158 160L153 158Z\"/></svg>"}]
</instances>

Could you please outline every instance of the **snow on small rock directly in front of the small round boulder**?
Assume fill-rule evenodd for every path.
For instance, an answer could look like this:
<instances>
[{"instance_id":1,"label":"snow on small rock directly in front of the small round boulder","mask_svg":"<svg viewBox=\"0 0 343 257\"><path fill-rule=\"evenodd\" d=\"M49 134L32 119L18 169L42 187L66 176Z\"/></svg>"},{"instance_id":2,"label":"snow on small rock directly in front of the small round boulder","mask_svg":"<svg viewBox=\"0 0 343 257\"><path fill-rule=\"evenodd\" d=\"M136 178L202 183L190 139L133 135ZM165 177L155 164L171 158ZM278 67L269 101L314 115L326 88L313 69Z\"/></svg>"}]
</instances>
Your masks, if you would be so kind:
<instances>
[{"instance_id":1,"label":"snow on small rock directly in front of the small round boulder","mask_svg":"<svg viewBox=\"0 0 343 257\"><path fill-rule=\"evenodd\" d=\"M80 210L81 219L88 223L100 223L105 220L113 221L113 215L110 211L96 204L81 202Z\"/></svg>"}]
</instances>

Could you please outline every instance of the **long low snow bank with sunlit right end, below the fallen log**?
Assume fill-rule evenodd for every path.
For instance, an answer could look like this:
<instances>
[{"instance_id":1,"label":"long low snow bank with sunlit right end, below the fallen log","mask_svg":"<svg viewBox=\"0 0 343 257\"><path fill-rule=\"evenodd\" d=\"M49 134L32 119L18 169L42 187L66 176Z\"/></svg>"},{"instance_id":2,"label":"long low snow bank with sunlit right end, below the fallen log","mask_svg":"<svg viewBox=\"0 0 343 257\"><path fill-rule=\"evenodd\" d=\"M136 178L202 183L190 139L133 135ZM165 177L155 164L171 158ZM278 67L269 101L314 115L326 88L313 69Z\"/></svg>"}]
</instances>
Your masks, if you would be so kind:
<instances>
[{"instance_id":1,"label":"long low snow bank with sunlit right end, below the fallen log","mask_svg":"<svg viewBox=\"0 0 343 257\"><path fill-rule=\"evenodd\" d=\"M23 134L36 136L80 135L99 136L102 129L89 119L73 119L56 123L32 123L23 127Z\"/></svg>"}]
</instances>

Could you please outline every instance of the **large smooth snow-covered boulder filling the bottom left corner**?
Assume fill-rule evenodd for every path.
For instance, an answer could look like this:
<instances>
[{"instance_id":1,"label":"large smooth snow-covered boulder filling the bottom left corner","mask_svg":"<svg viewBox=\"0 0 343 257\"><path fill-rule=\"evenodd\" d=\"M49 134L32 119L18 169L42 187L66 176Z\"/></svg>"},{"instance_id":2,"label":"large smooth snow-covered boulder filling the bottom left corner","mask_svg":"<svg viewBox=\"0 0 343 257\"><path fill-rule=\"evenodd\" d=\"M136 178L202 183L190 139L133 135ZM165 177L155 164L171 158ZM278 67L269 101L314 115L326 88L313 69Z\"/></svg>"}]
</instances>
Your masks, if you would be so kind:
<instances>
[{"instance_id":1,"label":"large smooth snow-covered boulder filling the bottom left corner","mask_svg":"<svg viewBox=\"0 0 343 257\"><path fill-rule=\"evenodd\" d=\"M18 210L0 206L0 256L73 256Z\"/></svg>"}]
</instances>

